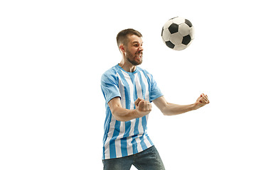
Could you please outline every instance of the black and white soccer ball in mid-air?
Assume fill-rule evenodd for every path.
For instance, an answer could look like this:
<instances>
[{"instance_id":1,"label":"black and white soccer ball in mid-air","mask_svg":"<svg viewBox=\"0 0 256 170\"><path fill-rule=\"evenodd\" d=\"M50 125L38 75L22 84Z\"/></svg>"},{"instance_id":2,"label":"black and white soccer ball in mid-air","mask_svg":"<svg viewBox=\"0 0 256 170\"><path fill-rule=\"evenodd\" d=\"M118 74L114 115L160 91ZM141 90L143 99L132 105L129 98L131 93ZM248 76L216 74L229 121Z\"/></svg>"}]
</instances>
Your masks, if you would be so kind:
<instances>
[{"instance_id":1,"label":"black and white soccer ball in mid-air","mask_svg":"<svg viewBox=\"0 0 256 170\"><path fill-rule=\"evenodd\" d=\"M184 50L194 38L194 28L190 21L177 16L164 24L161 37L167 47L173 50Z\"/></svg>"}]
</instances>

